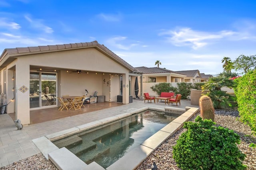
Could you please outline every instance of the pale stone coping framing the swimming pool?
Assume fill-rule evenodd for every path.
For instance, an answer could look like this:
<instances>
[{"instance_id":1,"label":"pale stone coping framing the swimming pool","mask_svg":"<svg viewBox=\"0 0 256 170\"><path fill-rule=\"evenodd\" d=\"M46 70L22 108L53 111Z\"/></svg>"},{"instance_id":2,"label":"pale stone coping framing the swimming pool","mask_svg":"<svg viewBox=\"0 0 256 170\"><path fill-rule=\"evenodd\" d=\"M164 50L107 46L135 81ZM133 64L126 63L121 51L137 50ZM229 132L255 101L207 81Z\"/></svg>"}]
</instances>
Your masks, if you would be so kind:
<instances>
[{"instance_id":1,"label":"pale stone coping framing the swimming pool","mask_svg":"<svg viewBox=\"0 0 256 170\"><path fill-rule=\"evenodd\" d=\"M44 155L44 157L48 160L50 159L54 165L59 170L69 170L74 169L74 164L76 164L76 169L95 169L95 170L105 170L97 164L96 162L92 162L90 164L86 164L78 157L76 157L72 152L64 147L59 149L54 145L51 141L60 139L67 135L72 135L75 133L79 133L80 131L84 131L87 129L92 129L94 127L99 127L101 125L105 125L107 123L122 119L124 117L128 117L130 115L145 111L145 110L155 110L155 111L166 111L166 110L176 110L176 111L184 111L179 117L174 119L168 125L160 129L154 135L146 139L143 143L141 143L138 147L134 148L122 158L117 160L114 164L110 165L106 170L131 170L136 168L141 162L146 159L156 148L158 148L166 139L172 136L178 129L180 129L185 121L188 121L198 110L197 107L185 107L185 109L178 109L175 107L164 107L164 109L159 109L157 107L141 107L141 108L130 108L123 110L124 113L107 117L104 119L100 119L97 121L93 121L90 123L86 123L84 125L76 126L70 129L66 129L64 131L59 131L56 133L52 133L50 135L46 135L43 137L39 137L37 139L33 139L32 142L38 147L40 152ZM177 110L178 109L178 110ZM65 158L68 158L66 160ZM127 161L129 160L129 161ZM67 163L69 162L69 163Z\"/></svg>"}]
</instances>

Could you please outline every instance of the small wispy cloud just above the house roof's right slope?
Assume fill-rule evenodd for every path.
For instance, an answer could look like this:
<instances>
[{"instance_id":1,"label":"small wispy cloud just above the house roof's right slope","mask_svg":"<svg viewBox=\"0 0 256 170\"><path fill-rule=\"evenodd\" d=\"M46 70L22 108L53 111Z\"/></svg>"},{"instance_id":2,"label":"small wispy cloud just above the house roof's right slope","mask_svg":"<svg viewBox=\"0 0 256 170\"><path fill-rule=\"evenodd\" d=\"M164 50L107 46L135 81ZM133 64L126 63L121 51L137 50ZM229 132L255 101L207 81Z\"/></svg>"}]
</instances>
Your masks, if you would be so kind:
<instances>
[{"instance_id":1,"label":"small wispy cloud just above the house roof's right slope","mask_svg":"<svg viewBox=\"0 0 256 170\"><path fill-rule=\"evenodd\" d=\"M123 50L130 50L132 47L138 45L138 44L135 44L135 43L131 43L129 45L122 45L120 43L120 41L124 41L126 39L127 39L127 37L118 36L118 37L112 37L112 38L108 39L106 42L109 45L112 45L112 46L114 46L114 47L116 47L118 49L123 49Z\"/></svg>"}]
</instances>

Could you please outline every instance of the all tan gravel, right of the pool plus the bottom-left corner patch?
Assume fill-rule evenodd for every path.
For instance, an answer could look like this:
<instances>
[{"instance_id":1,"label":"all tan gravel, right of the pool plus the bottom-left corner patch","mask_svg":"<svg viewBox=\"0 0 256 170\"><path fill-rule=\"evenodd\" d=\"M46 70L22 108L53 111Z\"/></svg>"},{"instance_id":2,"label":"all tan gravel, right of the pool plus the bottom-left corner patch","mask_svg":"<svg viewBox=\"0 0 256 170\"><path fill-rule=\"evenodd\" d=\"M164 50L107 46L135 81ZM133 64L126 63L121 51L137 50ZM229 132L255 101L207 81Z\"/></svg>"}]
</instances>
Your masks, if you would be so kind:
<instances>
[{"instance_id":1,"label":"all tan gravel, right of the pool plus the bottom-left corner patch","mask_svg":"<svg viewBox=\"0 0 256 170\"><path fill-rule=\"evenodd\" d=\"M197 115L198 113L190 121L194 121ZM252 131L247 125L238 121L238 117L237 110L215 110L215 122L217 125L232 129L240 135L241 143L238 145L238 148L246 154L243 163L247 166L247 170L256 170L256 149L249 147L250 143L256 144L256 137L252 135ZM181 128L172 137L167 139L136 170L151 169L150 167L153 162L156 162L158 170L180 170L172 158L172 147L185 130ZM40 153L5 166L2 170L58 170L58 168L51 161L46 160Z\"/></svg>"}]
</instances>

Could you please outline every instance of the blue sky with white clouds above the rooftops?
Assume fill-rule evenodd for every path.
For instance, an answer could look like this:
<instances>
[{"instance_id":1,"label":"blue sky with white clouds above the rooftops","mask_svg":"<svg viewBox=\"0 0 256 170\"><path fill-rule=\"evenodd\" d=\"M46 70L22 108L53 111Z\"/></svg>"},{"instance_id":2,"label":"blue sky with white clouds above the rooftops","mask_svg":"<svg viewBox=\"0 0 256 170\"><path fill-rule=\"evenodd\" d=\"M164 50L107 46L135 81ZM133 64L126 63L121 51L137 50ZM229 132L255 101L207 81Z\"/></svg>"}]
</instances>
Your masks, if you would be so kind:
<instances>
[{"instance_id":1,"label":"blue sky with white clouds above the rooftops","mask_svg":"<svg viewBox=\"0 0 256 170\"><path fill-rule=\"evenodd\" d=\"M0 0L0 51L98 41L134 67L222 72L256 55L254 0Z\"/></svg>"}]
</instances>

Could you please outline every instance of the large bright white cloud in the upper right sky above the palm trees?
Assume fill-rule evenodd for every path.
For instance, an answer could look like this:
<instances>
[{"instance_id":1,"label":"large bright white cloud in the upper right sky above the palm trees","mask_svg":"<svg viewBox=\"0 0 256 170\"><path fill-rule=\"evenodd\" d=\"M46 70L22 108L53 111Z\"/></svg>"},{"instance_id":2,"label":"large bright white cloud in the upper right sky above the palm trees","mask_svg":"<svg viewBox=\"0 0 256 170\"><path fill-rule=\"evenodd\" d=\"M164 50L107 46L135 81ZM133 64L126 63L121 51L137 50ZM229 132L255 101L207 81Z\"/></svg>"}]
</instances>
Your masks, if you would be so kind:
<instances>
[{"instance_id":1,"label":"large bright white cloud in the upper right sky above the palm trees","mask_svg":"<svg viewBox=\"0 0 256 170\"><path fill-rule=\"evenodd\" d=\"M180 28L178 30L162 31L159 35L167 35L166 39L175 46L189 46L193 49L204 47L211 43L238 34L234 31L220 31L216 33L194 31L191 28Z\"/></svg>"}]
</instances>

